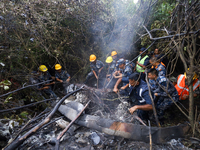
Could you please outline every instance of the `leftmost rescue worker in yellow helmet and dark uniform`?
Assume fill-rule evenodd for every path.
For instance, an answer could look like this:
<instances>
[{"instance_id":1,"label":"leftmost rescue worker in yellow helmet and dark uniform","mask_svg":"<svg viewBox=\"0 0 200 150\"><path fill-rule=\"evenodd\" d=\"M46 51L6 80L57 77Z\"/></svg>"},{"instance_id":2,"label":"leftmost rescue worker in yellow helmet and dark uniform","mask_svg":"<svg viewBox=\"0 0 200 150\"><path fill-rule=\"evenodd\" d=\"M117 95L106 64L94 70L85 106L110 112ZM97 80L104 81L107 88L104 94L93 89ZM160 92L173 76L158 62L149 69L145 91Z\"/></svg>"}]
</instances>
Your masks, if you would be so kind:
<instances>
[{"instance_id":1,"label":"leftmost rescue worker in yellow helmet and dark uniform","mask_svg":"<svg viewBox=\"0 0 200 150\"><path fill-rule=\"evenodd\" d=\"M40 65L39 67L39 82L44 82L47 80L54 79L48 72L48 69L45 65ZM39 85L38 90L44 91L46 94L57 98L57 95L52 91L51 85L55 84L55 82L47 82L45 84Z\"/></svg>"}]
</instances>

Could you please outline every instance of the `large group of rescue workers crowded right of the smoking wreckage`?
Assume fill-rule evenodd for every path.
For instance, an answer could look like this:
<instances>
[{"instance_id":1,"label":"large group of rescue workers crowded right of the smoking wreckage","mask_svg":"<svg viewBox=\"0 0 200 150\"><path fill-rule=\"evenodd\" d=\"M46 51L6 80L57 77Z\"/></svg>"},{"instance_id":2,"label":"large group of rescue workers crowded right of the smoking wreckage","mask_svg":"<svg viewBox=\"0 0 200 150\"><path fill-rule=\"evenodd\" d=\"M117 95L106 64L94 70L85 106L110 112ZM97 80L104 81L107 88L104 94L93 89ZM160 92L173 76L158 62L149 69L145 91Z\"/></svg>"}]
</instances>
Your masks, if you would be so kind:
<instances>
[{"instance_id":1,"label":"large group of rescue workers crowded right of the smoking wreckage","mask_svg":"<svg viewBox=\"0 0 200 150\"><path fill-rule=\"evenodd\" d=\"M113 88L113 92L129 97L133 107L129 112L133 114L137 111L138 116L143 120L154 119L152 102L160 122L164 120L166 109L179 100L185 100L189 96L189 88L186 74L181 74L177 78L177 84L166 78L167 60L158 49L147 54L146 48L140 49L140 55L136 65L118 56L117 51L112 51L107 57L106 65L97 60L94 54L90 55L91 72L87 75L85 84L93 77L100 80L101 73L106 67L106 84L104 88ZM194 96L199 94L199 80L195 74L193 78ZM149 87L148 87L149 85ZM150 89L150 90L149 90ZM151 98L152 97L152 98Z\"/></svg>"}]
</instances>

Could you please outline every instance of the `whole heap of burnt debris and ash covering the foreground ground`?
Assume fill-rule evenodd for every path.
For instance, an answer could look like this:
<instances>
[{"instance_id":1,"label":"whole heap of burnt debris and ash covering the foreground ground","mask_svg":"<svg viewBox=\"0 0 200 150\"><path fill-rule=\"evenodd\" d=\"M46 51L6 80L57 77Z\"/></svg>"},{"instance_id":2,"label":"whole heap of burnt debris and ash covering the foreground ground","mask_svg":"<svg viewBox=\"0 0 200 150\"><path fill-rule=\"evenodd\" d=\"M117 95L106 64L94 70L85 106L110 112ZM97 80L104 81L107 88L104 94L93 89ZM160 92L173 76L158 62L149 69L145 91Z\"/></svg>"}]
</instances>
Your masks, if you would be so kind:
<instances>
[{"instance_id":1,"label":"whole heap of burnt debris and ash covering the foreground ground","mask_svg":"<svg viewBox=\"0 0 200 150\"><path fill-rule=\"evenodd\" d=\"M74 85L70 88L77 89ZM149 127L142 125L142 121L136 115L128 113L130 104L126 98L119 98L113 93L108 94L108 91L88 90L87 87L84 91L66 98L49 123L27 138L18 149L55 149L55 139L70 124L70 120L76 118L89 100L91 102L85 111L61 137L59 149L149 149ZM53 102L52 107L56 103L58 102ZM0 135L6 137L7 142L16 136L20 139L25 132L37 126L50 113L50 110L45 110L32 118L23 128L19 125L12 126L12 131L9 125L13 123L8 121L7 127L4 124L0 128ZM2 121L1 124L3 125ZM183 128L180 126L164 129L152 127L151 133L155 143L153 149L187 149L181 144Z\"/></svg>"}]
</instances>

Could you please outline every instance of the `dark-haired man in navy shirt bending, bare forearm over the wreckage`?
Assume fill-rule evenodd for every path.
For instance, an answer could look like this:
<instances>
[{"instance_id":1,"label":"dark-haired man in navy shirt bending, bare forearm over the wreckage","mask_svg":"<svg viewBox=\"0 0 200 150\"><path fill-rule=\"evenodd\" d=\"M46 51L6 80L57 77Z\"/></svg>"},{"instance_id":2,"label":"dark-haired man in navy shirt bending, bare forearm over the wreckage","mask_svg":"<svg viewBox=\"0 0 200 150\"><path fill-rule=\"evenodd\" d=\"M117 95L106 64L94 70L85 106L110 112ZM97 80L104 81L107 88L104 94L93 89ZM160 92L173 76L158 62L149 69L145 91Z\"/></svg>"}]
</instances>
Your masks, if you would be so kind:
<instances>
[{"instance_id":1,"label":"dark-haired man in navy shirt bending, bare forearm over the wreckage","mask_svg":"<svg viewBox=\"0 0 200 150\"><path fill-rule=\"evenodd\" d=\"M133 114L137 111L138 116L142 120L148 120L149 115L152 114L152 102L149 96L147 83L141 80L140 74L134 72L129 76L130 100L136 104L129 109L129 112Z\"/></svg>"}]
</instances>

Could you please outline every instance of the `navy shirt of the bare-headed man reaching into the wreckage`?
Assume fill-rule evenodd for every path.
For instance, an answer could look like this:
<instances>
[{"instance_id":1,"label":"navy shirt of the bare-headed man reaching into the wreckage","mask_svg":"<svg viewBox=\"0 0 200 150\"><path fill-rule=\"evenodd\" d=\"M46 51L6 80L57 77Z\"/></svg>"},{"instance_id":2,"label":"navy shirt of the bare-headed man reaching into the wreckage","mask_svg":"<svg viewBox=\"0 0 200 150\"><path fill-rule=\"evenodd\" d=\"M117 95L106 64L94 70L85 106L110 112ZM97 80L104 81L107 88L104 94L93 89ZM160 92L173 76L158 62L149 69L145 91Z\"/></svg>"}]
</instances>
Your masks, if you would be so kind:
<instances>
[{"instance_id":1,"label":"navy shirt of the bare-headed man reaching into the wreckage","mask_svg":"<svg viewBox=\"0 0 200 150\"><path fill-rule=\"evenodd\" d=\"M140 105L152 104L146 82L144 82L143 80L140 80L140 84L138 86L135 86L135 87L131 86L130 89L131 90L130 90L129 95L135 97L138 100Z\"/></svg>"}]
</instances>

